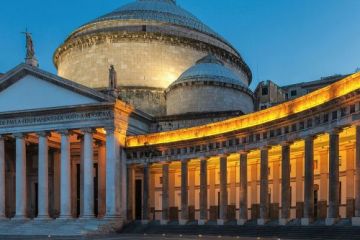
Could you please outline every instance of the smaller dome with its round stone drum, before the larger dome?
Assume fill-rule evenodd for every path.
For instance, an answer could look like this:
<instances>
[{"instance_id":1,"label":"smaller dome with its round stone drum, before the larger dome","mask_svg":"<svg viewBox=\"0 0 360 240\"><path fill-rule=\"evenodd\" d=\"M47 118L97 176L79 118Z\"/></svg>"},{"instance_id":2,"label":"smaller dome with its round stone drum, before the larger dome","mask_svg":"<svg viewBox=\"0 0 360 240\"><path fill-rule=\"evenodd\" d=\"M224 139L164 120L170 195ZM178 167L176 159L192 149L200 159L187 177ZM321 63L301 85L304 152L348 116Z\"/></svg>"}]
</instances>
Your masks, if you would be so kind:
<instances>
[{"instance_id":1,"label":"smaller dome with its round stone drum, before the larger dome","mask_svg":"<svg viewBox=\"0 0 360 240\"><path fill-rule=\"evenodd\" d=\"M166 89L166 113L250 113L254 110L253 93L244 82L222 61L208 55Z\"/></svg>"}]
</instances>

